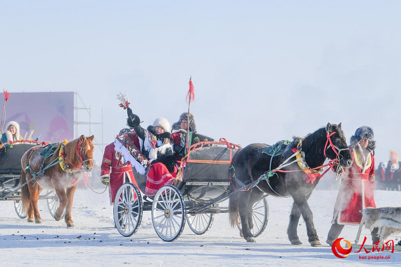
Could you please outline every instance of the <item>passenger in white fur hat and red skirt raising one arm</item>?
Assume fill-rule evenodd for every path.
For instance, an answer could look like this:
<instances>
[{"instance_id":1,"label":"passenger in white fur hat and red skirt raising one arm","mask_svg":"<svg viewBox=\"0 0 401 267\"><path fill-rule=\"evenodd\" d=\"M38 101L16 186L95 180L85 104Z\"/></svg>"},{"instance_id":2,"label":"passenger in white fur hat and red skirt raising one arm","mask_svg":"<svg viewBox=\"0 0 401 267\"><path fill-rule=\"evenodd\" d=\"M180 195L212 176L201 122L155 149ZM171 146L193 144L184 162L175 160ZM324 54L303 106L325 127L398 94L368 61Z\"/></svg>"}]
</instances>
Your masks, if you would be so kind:
<instances>
[{"instance_id":1,"label":"passenger in white fur hat and red skirt raising one arm","mask_svg":"<svg viewBox=\"0 0 401 267\"><path fill-rule=\"evenodd\" d=\"M144 129L140 119L127 108L127 125L135 130L142 154L151 162L146 175L145 195L153 196L165 184L173 184L177 175L175 157L170 144L170 124L165 118L157 118ZM134 140L134 143L136 141Z\"/></svg>"}]
</instances>

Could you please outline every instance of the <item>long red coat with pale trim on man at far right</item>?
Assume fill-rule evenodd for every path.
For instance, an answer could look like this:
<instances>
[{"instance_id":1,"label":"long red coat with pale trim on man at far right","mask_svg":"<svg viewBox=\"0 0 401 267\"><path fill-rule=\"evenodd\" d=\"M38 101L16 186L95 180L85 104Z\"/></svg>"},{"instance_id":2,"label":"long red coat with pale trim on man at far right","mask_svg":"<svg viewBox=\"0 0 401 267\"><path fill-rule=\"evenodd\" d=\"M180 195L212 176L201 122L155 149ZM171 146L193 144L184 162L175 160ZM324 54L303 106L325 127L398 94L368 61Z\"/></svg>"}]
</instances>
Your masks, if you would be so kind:
<instances>
[{"instance_id":1,"label":"long red coat with pale trim on man at far right","mask_svg":"<svg viewBox=\"0 0 401 267\"><path fill-rule=\"evenodd\" d=\"M360 223L360 210L376 207L373 198L374 157L372 153L364 160L356 147L350 148L354 162L341 179L337 200L334 207L334 218L339 224Z\"/></svg>"}]
</instances>

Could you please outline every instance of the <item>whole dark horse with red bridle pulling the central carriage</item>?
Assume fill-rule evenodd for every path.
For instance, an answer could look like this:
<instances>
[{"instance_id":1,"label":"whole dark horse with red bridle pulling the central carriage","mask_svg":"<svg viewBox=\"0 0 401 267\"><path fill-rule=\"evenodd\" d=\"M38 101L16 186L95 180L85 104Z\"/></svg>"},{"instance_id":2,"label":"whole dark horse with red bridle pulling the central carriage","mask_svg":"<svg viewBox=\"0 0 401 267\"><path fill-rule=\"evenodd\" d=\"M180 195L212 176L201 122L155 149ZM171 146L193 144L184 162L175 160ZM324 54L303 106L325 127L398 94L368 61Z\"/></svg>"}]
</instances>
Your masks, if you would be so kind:
<instances>
[{"instance_id":1,"label":"whole dark horse with red bridle pulling the central carriage","mask_svg":"<svg viewBox=\"0 0 401 267\"><path fill-rule=\"evenodd\" d=\"M312 169L320 168L326 158L338 159L338 163L343 167L352 165L353 159L341 130L341 123L338 125L328 123L326 127L308 134L305 138L294 137L284 152L274 156L273 159L265 153L268 147L270 146L266 144L250 144L238 151L233 158L230 169L232 176L230 192L258 180L265 173L273 174L273 176L267 178L269 175L265 175L266 179L260 179L260 182L251 189L231 195L230 222L232 226L239 224L240 217L244 238L247 242L255 242L255 237L250 231L253 228L253 204L260 200L264 193L273 196L292 196L294 204L287 229L291 244L301 244L297 225L302 214L306 223L308 241L312 246L320 246L313 224L312 211L307 202L320 178L320 173ZM298 155L302 168L297 162L293 162L296 157L291 156L294 154ZM287 159L289 160L286 161ZM283 162L285 163L282 164ZM338 165L335 168L339 170ZM278 170L275 173L269 172L274 169Z\"/></svg>"}]
</instances>

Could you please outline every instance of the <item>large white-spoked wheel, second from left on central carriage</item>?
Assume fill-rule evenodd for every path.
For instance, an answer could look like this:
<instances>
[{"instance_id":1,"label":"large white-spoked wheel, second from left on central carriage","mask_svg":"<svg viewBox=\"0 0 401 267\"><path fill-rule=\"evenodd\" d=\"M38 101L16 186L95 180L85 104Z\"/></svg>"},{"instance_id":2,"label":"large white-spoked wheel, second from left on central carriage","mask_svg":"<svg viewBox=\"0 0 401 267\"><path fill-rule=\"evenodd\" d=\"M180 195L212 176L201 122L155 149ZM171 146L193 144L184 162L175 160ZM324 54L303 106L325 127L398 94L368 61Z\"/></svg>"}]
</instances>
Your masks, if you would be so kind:
<instances>
[{"instance_id":1,"label":"large white-spoked wheel, second from left on central carriage","mask_svg":"<svg viewBox=\"0 0 401 267\"><path fill-rule=\"evenodd\" d=\"M164 241L178 238L185 226L185 203L181 192L172 185L161 187L152 203L152 221Z\"/></svg>"}]
</instances>

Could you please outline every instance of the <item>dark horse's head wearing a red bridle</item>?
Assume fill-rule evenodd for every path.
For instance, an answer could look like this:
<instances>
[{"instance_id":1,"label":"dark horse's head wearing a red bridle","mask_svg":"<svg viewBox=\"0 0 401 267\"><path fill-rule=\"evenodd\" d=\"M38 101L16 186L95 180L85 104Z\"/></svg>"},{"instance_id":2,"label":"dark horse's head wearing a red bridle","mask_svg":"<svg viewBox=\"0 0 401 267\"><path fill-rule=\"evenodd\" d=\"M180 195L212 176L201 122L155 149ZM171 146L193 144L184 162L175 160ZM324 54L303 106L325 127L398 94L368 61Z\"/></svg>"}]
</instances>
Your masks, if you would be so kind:
<instances>
[{"instance_id":1,"label":"dark horse's head wearing a red bridle","mask_svg":"<svg viewBox=\"0 0 401 267\"><path fill-rule=\"evenodd\" d=\"M337 158L340 166L351 167L353 159L344 132L341 130L341 123L338 125L327 123L326 135L327 141L324 155L330 159Z\"/></svg>"}]
</instances>

